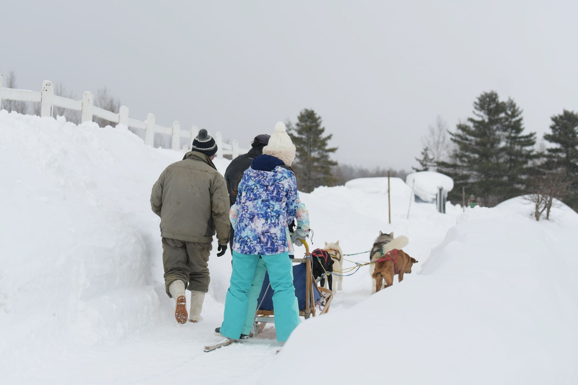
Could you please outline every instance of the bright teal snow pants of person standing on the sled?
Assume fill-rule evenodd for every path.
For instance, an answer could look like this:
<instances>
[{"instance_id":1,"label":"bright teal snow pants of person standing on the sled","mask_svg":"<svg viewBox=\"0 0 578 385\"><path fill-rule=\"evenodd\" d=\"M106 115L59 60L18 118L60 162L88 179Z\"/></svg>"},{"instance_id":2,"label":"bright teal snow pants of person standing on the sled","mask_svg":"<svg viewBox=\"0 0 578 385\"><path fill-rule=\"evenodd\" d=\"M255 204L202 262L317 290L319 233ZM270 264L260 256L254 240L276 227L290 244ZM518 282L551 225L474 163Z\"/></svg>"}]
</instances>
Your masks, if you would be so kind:
<instances>
[{"instance_id":1,"label":"bright teal snow pants of person standing on the sled","mask_svg":"<svg viewBox=\"0 0 578 385\"><path fill-rule=\"evenodd\" d=\"M247 308L249 307L249 291L251 283L255 279L259 257L259 255L247 255L233 251L231 284L227 290L225 314L220 329L220 333L225 337L239 339L243 331L247 320ZM269 272L271 288L275 291L273 307L275 308L277 341L284 342L301 322L299 309L296 306L297 297L295 297L295 287L293 287L291 259L289 259L287 252L276 255L261 255L261 259ZM264 274L263 271L262 275L264 276ZM261 287L259 287L259 291L261 291ZM257 305L255 305L256 307Z\"/></svg>"}]
</instances>

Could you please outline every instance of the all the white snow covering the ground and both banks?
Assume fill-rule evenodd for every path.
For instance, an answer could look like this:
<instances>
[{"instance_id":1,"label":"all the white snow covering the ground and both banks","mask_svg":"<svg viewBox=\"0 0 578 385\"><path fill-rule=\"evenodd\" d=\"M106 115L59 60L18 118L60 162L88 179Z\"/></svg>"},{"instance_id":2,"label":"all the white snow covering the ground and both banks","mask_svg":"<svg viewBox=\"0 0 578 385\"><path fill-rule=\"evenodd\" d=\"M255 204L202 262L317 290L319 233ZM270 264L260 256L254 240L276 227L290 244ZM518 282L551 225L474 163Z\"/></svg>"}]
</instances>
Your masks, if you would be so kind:
<instances>
[{"instance_id":1,"label":"all the white snow covering the ground and both banks","mask_svg":"<svg viewBox=\"0 0 578 385\"><path fill-rule=\"evenodd\" d=\"M182 156L126 128L0 111L0 383L578 382L578 214L562 206L535 222L514 199L464 214L413 202L407 219L401 180L391 225L382 180L301 198L313 248L363 252L394 231L420 261L413 274L375 296L366 267L344 278L331 311L280 354L272 327L203 353L218 340L231 257L210 259L203 322L177 324L149 196Z\"/></svg>"}]
</instances>

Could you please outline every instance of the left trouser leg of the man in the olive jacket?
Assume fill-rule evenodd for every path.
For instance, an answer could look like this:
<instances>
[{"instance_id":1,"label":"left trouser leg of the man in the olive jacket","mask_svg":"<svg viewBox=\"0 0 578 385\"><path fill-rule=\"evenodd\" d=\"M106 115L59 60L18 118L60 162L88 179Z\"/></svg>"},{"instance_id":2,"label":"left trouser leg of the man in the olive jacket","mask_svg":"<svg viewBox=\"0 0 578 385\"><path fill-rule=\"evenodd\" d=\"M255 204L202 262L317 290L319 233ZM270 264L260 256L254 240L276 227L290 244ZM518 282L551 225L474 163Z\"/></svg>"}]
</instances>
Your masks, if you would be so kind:
<instances>
[{"instance_id":1,"label":"left trouser leg of the man in the olive jacket","mask_svg":"<svg viewBox=\"0 0 578 385\"><path fill-rule=\"evenodd\" d=\"M185 241L162 238L162 266L165 270L166 295L172 298L169 292L171 283L178 279L183 281L186 287L189 279L190 267Z\"/></svg>"}]
</instances>

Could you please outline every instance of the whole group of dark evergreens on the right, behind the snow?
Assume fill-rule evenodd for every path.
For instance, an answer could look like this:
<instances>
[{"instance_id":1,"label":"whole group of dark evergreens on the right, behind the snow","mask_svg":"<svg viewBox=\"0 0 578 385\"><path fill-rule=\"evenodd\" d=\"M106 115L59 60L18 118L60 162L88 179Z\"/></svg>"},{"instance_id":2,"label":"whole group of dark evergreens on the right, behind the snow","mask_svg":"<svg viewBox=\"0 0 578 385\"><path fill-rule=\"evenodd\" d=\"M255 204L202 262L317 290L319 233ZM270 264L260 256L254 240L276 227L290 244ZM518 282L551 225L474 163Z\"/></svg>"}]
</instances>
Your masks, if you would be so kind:
<instances>
[{"instance_id":1,"label":"whole group of dark evergreens on the right, behind the snow","mask_svg":"<svg viewBox=\"0 0 578 385\"><path fill-rule=\"evenodd\" d=\"M495 91L483 92L473 103L472 116L448 131L453 143L449 158L432 162L425 147L416 158L420 168L414 170L436 167L454 180L448 199L461 201L463 186L466 195L479 197L488 207L533 194L544 188L544 181L560 180L547 188L549 194L577 210L578 114L564 110L551 120L543 138L547 148L539 150L536 133L524 129L523 110L516 102L501 100ZM564 178L552 178L553 173Z\"/></svg>"}]
</instances>

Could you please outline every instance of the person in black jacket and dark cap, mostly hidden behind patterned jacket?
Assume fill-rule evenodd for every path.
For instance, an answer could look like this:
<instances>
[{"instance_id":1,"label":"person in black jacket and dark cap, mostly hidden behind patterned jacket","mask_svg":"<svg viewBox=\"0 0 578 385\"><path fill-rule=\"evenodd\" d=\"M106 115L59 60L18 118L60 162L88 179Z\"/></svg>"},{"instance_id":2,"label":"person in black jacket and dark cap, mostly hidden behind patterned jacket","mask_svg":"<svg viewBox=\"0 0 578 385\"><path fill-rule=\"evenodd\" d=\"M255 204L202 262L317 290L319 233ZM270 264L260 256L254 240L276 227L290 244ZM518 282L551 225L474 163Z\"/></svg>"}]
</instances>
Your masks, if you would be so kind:
<instances>
[{"instance_id":1,"label":"person in black jacket and dark cap, mostly hidden behind patterned jacket","mask_svg":"<svg viewBox=\"0 0 578 385\"><path fill-rule=\"evenodd\" d=\"M271 136L268 134L260 134L255 136L253 143L251 143L251 149L247 154L239 155L235 159L231 160L231 163L227 166L225 170L225 182L227 182L227 191L229 192L229 205L234 205L237 200L237 188L239 182L243 177L245 170L251 167L251 162L257 156L263 154L263 147L269 143L269 138ZM231 253L233 252L233 238L235 237L235 231L231 227L231 237L229 238L229 249Z\"/></svg>"}]
</instances>

